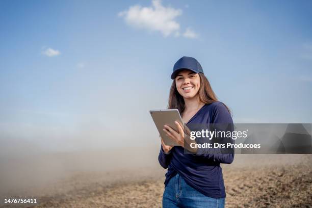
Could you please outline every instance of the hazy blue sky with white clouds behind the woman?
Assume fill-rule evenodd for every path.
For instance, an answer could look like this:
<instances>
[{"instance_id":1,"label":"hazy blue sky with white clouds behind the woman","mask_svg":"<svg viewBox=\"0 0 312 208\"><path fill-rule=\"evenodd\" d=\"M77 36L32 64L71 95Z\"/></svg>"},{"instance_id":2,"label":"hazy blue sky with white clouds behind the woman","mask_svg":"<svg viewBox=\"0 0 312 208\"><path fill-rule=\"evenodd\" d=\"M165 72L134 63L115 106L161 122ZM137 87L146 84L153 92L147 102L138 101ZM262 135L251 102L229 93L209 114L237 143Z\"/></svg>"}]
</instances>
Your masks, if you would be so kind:
<instances>
[{"instance_id":1,"label":"hazy blue sky with white clouds behind the woman","mask_svg":"<svg viewBox=\"0 0 312 208\"><path fill-rule=\"evenodd\" d=\"M148 111L166 108L182 56L201 63L235 122L312 123L311 10L311 1L0 1L0 141L158 144Z\"/></svg>"}]
</instances>

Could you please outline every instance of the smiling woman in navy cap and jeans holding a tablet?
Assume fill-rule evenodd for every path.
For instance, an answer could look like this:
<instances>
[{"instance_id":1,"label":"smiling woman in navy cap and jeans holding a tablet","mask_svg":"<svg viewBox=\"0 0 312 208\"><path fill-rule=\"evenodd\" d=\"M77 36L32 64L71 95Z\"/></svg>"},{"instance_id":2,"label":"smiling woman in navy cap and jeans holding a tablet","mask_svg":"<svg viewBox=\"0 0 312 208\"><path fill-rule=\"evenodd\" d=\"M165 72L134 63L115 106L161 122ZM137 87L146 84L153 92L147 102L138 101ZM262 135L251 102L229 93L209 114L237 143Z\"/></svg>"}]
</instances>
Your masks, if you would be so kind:
<instances>
[{"instance_id":1,"label":"smiling woman in navy cap and jeans holding a tablet","mask_svg":"<svg viewBox=\"0 0 312 208\"><path fill-rule=\"evenodd\" d=\"M169 109L178 109L187 126L195 123L232 124L228 108L217 100L198 61L180 58L173 67ZM220 163L230 164L233 152L218 150L186 154L185 128L176 122L178 132L165 125L166 134L180 146L162 140L159 163L168 168L163 207L224 207L225 188ZM197 151L197 150L196 150Z\"/></svg>"}]
</instances>

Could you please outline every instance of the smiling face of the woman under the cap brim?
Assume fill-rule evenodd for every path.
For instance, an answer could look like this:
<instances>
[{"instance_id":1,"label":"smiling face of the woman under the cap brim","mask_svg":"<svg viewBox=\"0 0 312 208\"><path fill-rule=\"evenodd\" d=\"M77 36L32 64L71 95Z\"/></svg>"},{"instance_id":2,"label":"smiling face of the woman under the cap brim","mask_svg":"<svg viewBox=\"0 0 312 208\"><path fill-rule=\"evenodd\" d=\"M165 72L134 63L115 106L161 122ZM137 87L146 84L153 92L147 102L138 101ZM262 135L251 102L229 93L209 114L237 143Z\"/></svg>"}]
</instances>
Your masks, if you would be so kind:
<instances>
[{"instance_id":1,"label":"smiling face of the woman under the cap brim","mask_svg":"<svg viewBox=\"0 0 312 208\"><path fill-rule=\"evenodd\" d=\"M181 96L193 98L199 91L200 77L198 73L191 70L183 70L176 75L175 85Z\"/></svg>"}]
</instances>

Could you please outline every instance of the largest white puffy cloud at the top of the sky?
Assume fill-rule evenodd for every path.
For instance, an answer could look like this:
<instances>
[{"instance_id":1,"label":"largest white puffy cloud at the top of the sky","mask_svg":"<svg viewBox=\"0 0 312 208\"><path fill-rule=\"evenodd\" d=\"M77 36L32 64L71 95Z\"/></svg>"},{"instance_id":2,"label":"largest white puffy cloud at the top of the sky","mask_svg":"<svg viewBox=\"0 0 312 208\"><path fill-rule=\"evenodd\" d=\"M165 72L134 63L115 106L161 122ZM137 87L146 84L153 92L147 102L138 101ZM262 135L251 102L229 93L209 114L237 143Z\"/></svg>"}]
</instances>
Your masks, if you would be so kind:
<instances>
[{"instance_id":1,"label":"largest white puffy cloud at the top of the sky","mask_svg":"<svg viewBox=\"0 0 312 208\"><path fill-rule=\"evenodd\" d=\"M175 20L182 14L182 10L164 7L161 0L153 0L151 7L131 6L128 10L120 12L128 25L149 31L159 31L164 37L175 34L180 29L180 24Z\"/></svg>"}]
</instances>

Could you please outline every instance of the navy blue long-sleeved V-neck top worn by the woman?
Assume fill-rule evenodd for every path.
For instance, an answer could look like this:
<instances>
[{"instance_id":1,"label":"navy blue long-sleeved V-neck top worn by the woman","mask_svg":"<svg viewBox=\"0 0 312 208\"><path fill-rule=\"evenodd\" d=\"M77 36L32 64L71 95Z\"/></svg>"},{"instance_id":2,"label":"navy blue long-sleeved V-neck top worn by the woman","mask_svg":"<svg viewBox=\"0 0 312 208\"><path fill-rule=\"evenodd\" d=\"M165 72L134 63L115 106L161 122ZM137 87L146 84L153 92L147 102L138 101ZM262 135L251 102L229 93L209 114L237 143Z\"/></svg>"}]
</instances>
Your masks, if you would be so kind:
<instances>
[{"instance_id":1,"label":"navy blue long-sleeved V-neck top worn by the woman","mask_svg":"<svg viewBox=\"0 0 312 208\"><path fill-rule=\"evenodd\" d=\"M222 102L204 105L186 124L196 123L230 123L232 118ZM191 129L192 131L192 129ZM158 161L163 168L168 168L165 187L169 180L178 172L187 184L202 194L213 198L224 198L225 187L220 163L233 162L233 152L213 151L199 154L186 154L181 146L174 146L169 154L165 154L161 147Z\"/></svg>"}]
</instances>

